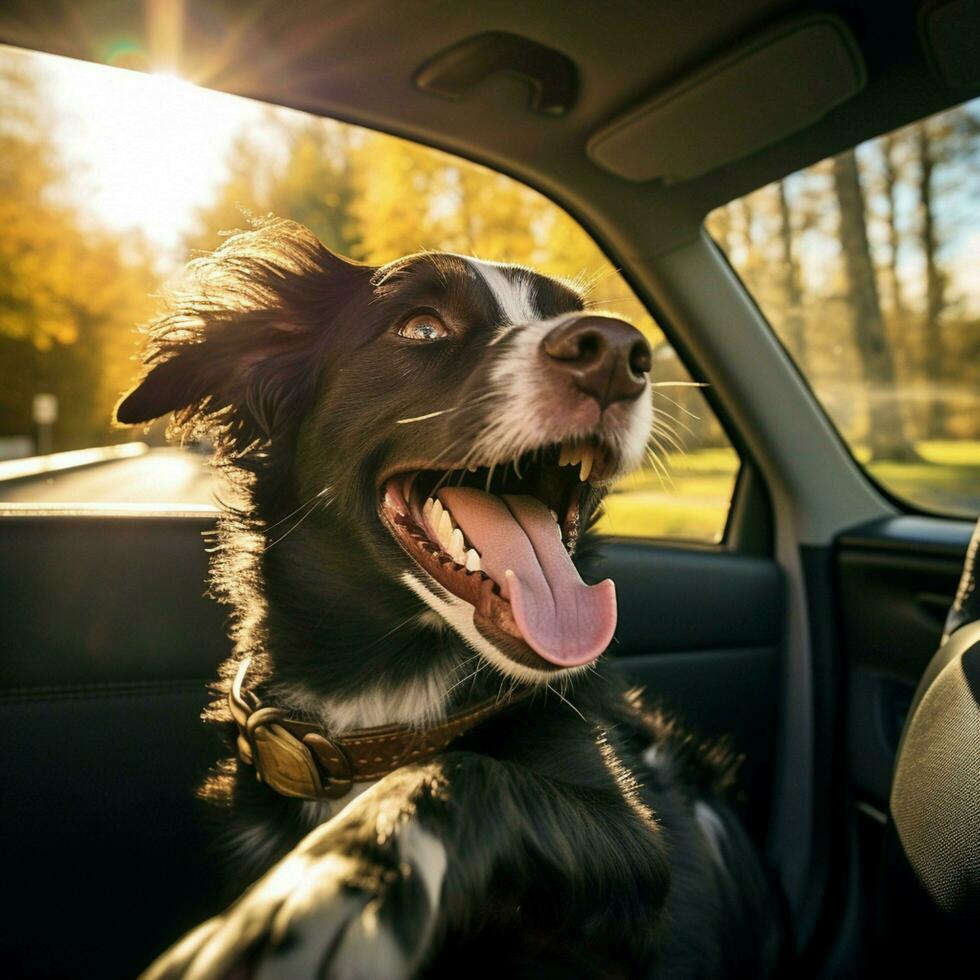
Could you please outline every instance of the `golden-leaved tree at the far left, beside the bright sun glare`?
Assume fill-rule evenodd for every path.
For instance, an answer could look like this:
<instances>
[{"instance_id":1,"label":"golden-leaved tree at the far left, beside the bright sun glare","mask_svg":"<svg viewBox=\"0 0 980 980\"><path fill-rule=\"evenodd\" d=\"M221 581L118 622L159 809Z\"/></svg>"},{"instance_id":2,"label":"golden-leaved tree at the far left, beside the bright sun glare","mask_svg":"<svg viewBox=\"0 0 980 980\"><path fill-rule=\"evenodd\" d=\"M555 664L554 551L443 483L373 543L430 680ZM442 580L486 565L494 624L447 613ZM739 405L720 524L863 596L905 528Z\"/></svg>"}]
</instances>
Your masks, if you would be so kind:
<instances>
[{"instance_id":1,"label":"golden-leaved tree at the far left, beside the bright sun glare","mask_svg":"<svg viewBox=\"0 0 980 980\"><path fill-rule=\"evenodd\" d=\"M112 404L157 278L141 242L81 219L24 56L0 58L0 99L0 435L29 435L33 395L50 392L54 448L118 440Z\"/></svg>"}]
</instances>

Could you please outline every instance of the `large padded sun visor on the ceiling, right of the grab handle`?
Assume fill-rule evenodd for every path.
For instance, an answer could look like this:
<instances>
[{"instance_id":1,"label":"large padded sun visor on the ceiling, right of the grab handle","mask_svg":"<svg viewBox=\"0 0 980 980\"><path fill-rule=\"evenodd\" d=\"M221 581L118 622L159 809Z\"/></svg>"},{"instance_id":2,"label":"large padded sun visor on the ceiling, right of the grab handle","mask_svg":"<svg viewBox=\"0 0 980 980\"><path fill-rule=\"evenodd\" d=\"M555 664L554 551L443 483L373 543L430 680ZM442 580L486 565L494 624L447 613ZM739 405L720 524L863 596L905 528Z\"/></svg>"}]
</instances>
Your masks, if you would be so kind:
<instances>
[{"instance_id":1,"label":"large padded sun visor on the ceiling, right of the grab handle","mask_svg":"<svg viewBox=\"0 0 980 980\"><path fill-rule=\"evenodd\" d=\"M598 130L589 157L626 180L688 180L799 132L865 84L837 17L767 31Z\"/></svg>"}]
</instances>

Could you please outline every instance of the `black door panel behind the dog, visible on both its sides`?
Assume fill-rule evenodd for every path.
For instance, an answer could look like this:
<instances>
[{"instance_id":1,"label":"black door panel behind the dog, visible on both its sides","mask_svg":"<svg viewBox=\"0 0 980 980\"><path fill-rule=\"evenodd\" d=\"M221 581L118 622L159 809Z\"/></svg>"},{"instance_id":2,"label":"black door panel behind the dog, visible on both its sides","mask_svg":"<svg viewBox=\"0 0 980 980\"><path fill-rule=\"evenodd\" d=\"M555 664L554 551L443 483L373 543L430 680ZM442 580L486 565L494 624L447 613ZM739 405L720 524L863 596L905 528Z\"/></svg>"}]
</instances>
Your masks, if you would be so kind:
<instances>
[{"instance_id":1,"label":"black door panel behind the dog, visible on both its sides","mask_svg":"<svg viewBox=\"0 0 980 980\"><path fill-rule=\"evenodd\" d=\"M200 715L230 648L225 612L205 595L213 526L200 514L0 514L0 781L20 897L10 962L133 975L228 898L194 796L222 752ZM611 656L630 681L747 756L741 785L761 835L780 570L723 549L613 541L592 574L617 581Z\"/></svg>"}]
</instances>

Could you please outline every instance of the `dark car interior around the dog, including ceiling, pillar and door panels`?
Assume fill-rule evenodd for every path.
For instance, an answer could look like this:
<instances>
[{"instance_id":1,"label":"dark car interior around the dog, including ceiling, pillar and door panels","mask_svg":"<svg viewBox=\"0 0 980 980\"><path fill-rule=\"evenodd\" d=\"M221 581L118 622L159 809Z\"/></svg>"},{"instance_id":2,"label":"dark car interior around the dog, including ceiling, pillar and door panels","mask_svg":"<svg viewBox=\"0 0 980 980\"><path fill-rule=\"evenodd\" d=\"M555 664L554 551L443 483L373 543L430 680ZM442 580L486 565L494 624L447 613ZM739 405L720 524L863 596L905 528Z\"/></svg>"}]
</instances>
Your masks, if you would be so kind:
<instances>
[{"instance_id":1,"label":"dark car interior around the dog, including ceiling, pillar and door panels","mask_svg":"<svg viewBox=\"0 0 980 980\"><path fill-rule=\"evenodd\" d=\"M155 6L17 4L0 11L0 43L100 61L126 35L152 52ZM720 543L602 549L589 571L617 583L609 656L744 755L740 805L785 894L798 975L952 956L962 927L923 884L923 862L961 861L953 904L976 903L980 841L955 859L920 847L910 870L889 800L973 522L869 479L704 222L980 94L980 3L175 6L182 68L208 66L209 87L508 174L622 270L708 385L741 468ZM219 752L199 716L228 652L225 611L205 595L214 521L193 508L0 504L10 976L135 975L234 898L194 797ZM962 804L980 716L960 693L973 754L952 753L963 765L943 778ZM980 803L963 809L975 835Z\"/></svg>"}]
</instances>

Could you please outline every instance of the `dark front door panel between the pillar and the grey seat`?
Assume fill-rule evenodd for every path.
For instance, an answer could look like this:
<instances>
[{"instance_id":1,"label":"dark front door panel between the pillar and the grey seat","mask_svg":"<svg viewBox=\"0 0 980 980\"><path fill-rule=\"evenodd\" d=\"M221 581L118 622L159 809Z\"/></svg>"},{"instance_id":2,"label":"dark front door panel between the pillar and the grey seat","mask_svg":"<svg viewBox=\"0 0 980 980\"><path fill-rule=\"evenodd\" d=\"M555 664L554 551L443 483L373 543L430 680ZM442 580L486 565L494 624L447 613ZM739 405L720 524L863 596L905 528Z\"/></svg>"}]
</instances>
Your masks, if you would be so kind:
<instances>
[{"instance_id":1,"label":"dark front door panel between the pillar and the grey seat","mask_svg":"<svg viewBox=\"0 0 980 980\"><path fill-rule=\"evenodd\" d=\"M837 795L848 830L837 914L827 918L834 945L827 945L821 975L839 975L835 963L863 963L869 972L890 961L881 914L895 756L916 686L939 647L972 529L971 522L904 514L836 539L837 659L846 703L839 729L846 770ZM926 909L915 922L922 949L939 935L934 914Z\"/></svg>"}]
</instances>

